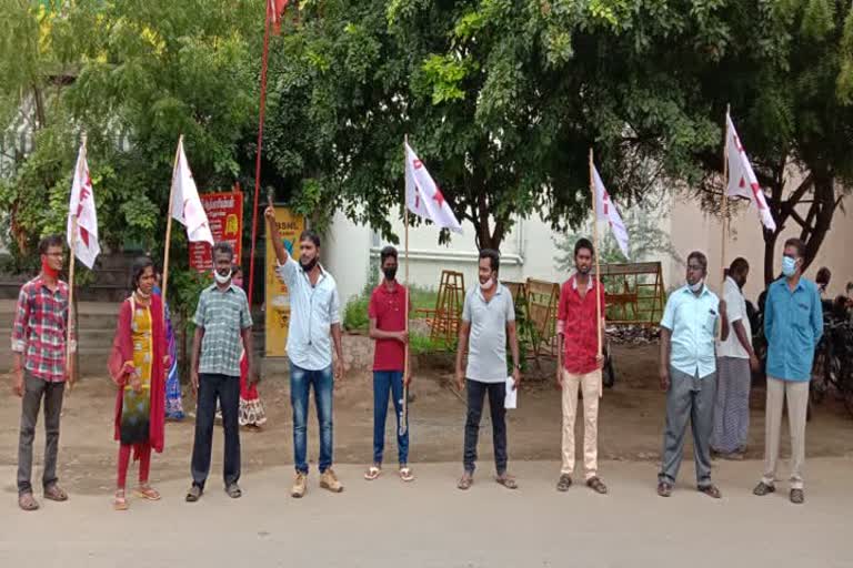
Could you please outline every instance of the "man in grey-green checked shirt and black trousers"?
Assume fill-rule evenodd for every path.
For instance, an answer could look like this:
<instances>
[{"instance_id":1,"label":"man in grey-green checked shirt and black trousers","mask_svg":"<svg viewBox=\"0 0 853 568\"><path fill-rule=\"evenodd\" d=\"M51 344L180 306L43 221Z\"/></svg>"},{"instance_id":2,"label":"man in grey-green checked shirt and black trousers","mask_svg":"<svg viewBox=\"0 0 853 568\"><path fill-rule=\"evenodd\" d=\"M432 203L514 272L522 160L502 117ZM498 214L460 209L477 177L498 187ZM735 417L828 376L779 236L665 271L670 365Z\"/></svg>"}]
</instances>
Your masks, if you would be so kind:
<instances>
[{"instance_id":1,"label":"man in grey-green checked shirt and black trousers","mask_svg":"<svg viewBox=\"0 0 853 568\"><path fill-rule=\"evenodd\" d=\"M223 478L225 493L233 499L242 495L240 479L240 354L252 353L252 316L242 288L231 280L234 252L228 243L213 247L214 284L204 288L195 310L190 383L198 397L195 440L192 445L192 486L187 501L198 501L210 473L213 422L217 403L222 409L225 438ZM251 356L248 362L250 382Z\"/></svg>"}]
</instances>

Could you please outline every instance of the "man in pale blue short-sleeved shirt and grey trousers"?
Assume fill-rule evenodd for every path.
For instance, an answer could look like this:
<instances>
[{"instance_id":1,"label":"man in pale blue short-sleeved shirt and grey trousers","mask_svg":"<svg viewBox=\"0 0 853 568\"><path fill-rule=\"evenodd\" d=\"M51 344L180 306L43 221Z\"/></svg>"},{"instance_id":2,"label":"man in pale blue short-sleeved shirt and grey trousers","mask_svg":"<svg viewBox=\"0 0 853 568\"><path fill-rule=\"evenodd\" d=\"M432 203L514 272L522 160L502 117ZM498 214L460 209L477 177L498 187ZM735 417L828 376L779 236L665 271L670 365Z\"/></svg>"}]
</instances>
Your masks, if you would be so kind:
<instances>
[{"instance_id":1,"label":"man in pale blue short-sleeved shirt and grey trousers","mask_svg":"<svg viewBox=\"0 0 853 568\"><path fill-rule=\"evenodd\" d=\"M698 251L688 256L688 283L670 294L661 321L661 387L666 390L666 426L663 434L658 495L669 497L684 452L688 422L693 428L696 487L719 499L711 481L711 432L716 394L716 329L729 337L725 301L705 284L708 257Z\"/></svg>"}]
</instances>

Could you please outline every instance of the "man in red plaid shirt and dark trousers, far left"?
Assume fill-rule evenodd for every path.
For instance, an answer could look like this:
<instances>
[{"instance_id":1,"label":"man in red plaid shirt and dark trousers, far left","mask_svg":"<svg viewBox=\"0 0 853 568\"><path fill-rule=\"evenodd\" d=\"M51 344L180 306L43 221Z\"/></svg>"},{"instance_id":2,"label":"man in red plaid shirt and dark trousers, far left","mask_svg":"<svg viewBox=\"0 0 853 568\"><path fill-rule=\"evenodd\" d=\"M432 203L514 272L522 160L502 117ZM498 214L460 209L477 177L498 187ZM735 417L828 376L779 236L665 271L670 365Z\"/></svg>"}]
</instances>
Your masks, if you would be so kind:
<instances>
[{"instance_id":1,"label":"man in red plaid shirt and dark trousers, far left","mask_svg":"<svg viewBox=\"0 0 853 568\"><path fill-rule=\"evenodd\" d=\"M57 483L59 417L66 381L71 379L66 364L68 345L68 284L59 280L63 264L62 237L52 235L39 244L41 272L23 286L12 327L14 393L22 398L21 434L18 444L18 505L36 510L32 496L32 440L41 400L44 399L44 498L68 500ZM72 341L71 351L74 351ZM70 362L69 362L70 363Z\"/></svg>"}]
</instances>

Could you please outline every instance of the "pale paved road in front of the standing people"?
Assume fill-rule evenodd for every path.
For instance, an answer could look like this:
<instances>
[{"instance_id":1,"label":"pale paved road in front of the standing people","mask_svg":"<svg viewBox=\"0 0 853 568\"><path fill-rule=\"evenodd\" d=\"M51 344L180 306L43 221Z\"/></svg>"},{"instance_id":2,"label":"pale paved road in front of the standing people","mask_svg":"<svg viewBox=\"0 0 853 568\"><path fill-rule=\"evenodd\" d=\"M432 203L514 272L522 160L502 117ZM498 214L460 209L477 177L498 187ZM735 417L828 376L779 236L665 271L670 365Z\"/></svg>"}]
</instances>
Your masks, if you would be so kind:
<instances>
[{"instance_id":1,"label":"pale paved road in front of the standing people","mask_svg":"<svg viewBox=\"0 0 853 568\"><path fill-rule=\"evenodd\" d=\"M454 488L455 464L418 467L403 485L387 471L361 479L341 466L341 495L317 488L287 496L290 469L242 480L233 501L219 483L194 505L184 484L160 486L164 499L114 513L110 496L74 496L36 514L19 513L13 487L0 499L3 567L850 567L853 566L853 459L812 459L805 506L786 490L751 495L757 462L723 463L714 501L691 486L654 494L652 464L606 463L611 495L554 488L559 465L518 463L520 489L491 481L484 468L470 491ZM0 468L3 479L13 470ZM155 474L155 471L154 471ZM682 479L692 467L685 463ZM780 489L785 489L780 485Z\"/></svg>"}]
</instances>

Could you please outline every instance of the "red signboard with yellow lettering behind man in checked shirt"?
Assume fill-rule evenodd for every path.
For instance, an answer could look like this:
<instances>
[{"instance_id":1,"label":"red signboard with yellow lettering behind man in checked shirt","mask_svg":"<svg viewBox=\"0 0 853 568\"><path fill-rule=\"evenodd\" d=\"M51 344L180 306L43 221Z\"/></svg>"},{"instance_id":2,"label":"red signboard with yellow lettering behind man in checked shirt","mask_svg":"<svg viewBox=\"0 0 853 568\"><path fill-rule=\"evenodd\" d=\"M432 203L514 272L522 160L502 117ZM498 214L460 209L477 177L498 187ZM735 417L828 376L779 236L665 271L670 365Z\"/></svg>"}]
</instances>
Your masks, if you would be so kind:
<instances>
[{"instance_id":1,"label":"red signboard with yellow lettering behind man in checked shirt","mask_svg":"<svg viewBox=\"0 0 853 568\"><path fill-rule=\"evenodd\" d=\"M234 250L234 264L240 264L243 234L243 194L205 193L200 195L201 205L208 214L213 241L228 243ZM213 258L208 243L190 243L190 267L199 272L213 270Z\"/></svg>"}]
</instances>

